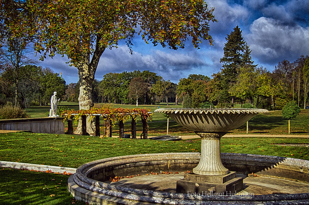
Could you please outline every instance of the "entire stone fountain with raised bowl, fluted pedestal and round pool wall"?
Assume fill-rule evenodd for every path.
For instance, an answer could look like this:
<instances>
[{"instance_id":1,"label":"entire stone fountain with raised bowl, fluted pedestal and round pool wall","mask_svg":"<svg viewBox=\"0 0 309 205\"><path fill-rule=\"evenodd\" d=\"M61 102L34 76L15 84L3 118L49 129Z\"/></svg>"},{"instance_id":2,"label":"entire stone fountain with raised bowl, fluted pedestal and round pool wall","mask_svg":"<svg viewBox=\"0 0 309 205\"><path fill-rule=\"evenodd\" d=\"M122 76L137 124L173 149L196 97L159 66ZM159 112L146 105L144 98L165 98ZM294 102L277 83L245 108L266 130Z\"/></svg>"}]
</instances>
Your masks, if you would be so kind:
<instances>
[{"instance_id":1,"label":"entire stone fountain with raised bowl, fluted pedestal and round pool wall","mask_svg":"<svg viewBox=\"0 0 309 205\"><path fill-rule=\"evenodd\" d=\"M265 176L309 184L309 161L306 160L238 153L220 155L220 138L227 131L241 126L259 113L267 113L267 110L171 108L158 109L155 112L165 113L182 126L197 133L201 137L201 154L197 152L140 154L85 163L68 179L68 191L75 199L90 204L115 205L309 204L309 192L306 190L244 196L205 193L205 191L214 194L219 191L224 192L223 190L235 190L235 192L241 190L242 179L236 177L234 171L242 175L246 172L255 173L261 178ZM184 179L181 179L180 175L177 178L178 181L173 182L177 183L176 191L162 191L161 188L153 190L151 189L153 182L149 181L150 178L147 178L147 175L150 171L159 172L160 170L179 173L193 170L193 174L184 174ZM108 182L110 177L137 174L146 177L147 184L142 188L134 187L134 180L139 181L139 178L135 177L131 178L133 182L129 182L127 186ZM267 179L265 183L268 184L269 178L265 179ZM258 187L258 189L261 188ZM188 191L200 194L192 195L188 194ZM204 193L201 193L203 191Z\"/></svg>"}]
</instances>

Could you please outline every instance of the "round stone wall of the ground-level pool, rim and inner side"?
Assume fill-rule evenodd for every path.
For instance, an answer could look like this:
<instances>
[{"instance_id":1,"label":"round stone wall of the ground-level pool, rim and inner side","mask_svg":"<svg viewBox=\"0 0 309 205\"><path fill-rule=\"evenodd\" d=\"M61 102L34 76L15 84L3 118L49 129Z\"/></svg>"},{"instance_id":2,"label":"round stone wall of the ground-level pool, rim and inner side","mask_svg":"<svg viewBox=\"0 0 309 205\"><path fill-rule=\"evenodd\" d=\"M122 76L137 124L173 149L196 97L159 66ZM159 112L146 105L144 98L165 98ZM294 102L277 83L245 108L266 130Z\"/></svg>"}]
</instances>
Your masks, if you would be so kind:
<instances>
[{"instance_id":1,"label":"round stone wall of the ground-level pool, rim and inner side","mask_svg":"<svg viewBox=\"0 0 309 205\"><path fill-rule=\"evenodd\" d=\"M238 174L253 172L305 183L309 187L309 161L306 160L236 153L221 153L221 159L225 167ZM143 154L96 160L78 167L68 180L68 191L75 199L90 204L309 204L309 193L208 196L104 183L110 177L145 175L151 171L192 171L199 160L200 153Z\"/></svg>"}]
</instances>

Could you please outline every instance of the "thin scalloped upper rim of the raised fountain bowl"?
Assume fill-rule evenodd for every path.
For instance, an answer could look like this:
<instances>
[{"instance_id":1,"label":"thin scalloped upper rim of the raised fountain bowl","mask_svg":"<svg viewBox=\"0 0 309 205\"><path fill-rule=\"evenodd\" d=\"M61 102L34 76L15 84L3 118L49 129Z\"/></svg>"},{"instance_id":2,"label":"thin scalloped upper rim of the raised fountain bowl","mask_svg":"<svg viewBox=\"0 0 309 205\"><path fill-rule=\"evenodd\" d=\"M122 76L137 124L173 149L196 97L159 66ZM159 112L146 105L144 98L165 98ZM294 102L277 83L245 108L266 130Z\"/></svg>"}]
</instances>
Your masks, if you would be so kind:
<instances>
[{"instance_id":1,"label":"thin scalloped upper rim of the raised fountain bowl","mask_svg":"<svg viewBox=\"0 0 309 205\"><path fill-rule=\"evenodd\" d=\"M217 113L219 114L220 112L222 114L227 113L227 114L235 114L235 113L269 113L268 110L265 109L256 109L256 108L213 108L212 110L210 110L209 108L159 108L156 109L155 112L159 112L159 113L194 113L196 114L197 112L199 112L200 114L205 113L206 115L208 113L214 114Z\"/></svg>"}]
</instances>

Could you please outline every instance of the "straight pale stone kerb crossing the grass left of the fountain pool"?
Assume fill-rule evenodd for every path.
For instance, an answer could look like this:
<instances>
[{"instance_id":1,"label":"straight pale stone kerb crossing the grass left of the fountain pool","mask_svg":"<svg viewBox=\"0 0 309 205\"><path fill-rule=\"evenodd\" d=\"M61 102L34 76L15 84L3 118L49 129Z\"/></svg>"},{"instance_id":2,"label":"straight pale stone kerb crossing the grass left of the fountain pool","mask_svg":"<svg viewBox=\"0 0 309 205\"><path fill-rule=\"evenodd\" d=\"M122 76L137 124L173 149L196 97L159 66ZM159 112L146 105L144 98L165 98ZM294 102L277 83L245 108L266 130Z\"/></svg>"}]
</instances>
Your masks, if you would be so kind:
<instances>
[{"instance_id":1,"label":"straight pale stone kerb crossing the grass left of the fountain pool","mask_svg":"<svg viewBox=\"0 0 309 205\"><path fill-rule=\"evenodd\" d=\"M28 169L28 170L35 170L35 171L48 171L51 170L52 172L59 172L63 173L66 171L67 173L74 174L76 172L76 168L70 167L56 167L56 166L48 166L42 164L29 164L29 163L20 163L20 162L6 162L0 161L0 167L9 167L15 169Z\"/></svg>"}]
</instances>

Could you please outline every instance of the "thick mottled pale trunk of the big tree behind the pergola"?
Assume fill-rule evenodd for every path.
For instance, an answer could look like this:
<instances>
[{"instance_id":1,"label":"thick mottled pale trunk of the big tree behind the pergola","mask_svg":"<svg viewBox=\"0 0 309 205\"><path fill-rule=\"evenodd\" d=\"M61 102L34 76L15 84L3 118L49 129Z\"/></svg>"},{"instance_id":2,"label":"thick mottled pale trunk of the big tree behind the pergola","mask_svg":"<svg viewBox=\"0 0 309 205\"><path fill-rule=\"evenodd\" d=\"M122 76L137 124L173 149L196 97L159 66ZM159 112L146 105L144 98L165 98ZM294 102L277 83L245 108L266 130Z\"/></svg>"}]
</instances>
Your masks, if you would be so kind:
<instances>
[{"instance_id":1,"label":"thick mottled pale trunk of the big tree behind the pergola","mask_svg":"<svg viewBox=\"0 0 309 205\"><path fill-rule=\"evenodd\" d=\"M95 51L92 55L90 62L90 54L85 53L83 59L77 64L78 77L79 77L79 109L89 110L93 107L93 102L91 98L92 82L95 77L95 71L99 63L99 59L103 54L105 47L99 46L100 38L97 37ZM87 117L87 133L95 133L95 121L94 118L90 116ZM82 120L78 121L78 127L75 134L82 133Z\"/></svg>"}]
</instances>

